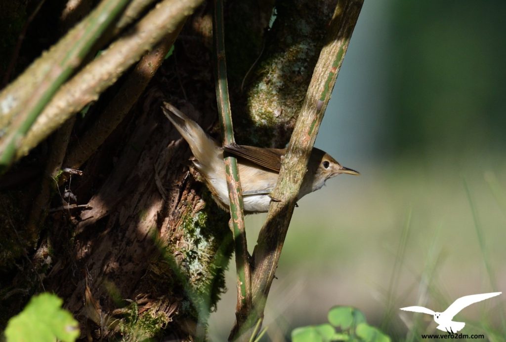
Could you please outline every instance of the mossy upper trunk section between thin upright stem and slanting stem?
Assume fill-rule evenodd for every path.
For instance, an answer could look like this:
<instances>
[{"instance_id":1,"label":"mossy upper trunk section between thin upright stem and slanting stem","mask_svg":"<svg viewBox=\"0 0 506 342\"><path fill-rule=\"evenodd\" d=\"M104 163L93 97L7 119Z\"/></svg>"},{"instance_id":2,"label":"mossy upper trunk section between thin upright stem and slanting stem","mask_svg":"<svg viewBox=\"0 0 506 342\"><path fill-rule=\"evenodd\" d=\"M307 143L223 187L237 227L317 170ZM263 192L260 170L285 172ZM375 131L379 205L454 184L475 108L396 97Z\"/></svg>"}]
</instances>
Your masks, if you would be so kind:
<instances>
[{"instance_id":1,"label":"mossy upper trunk section between thin upright stem and slanting stem","mask_svg":"<svg viewBox=\"0 0 506 342\"><path fill-rule=\"evenodd\" d=\"M276 19L241 115L238 142L283 148L306 95L335 1L276 3Z\"/></svg>"}]
</instances>

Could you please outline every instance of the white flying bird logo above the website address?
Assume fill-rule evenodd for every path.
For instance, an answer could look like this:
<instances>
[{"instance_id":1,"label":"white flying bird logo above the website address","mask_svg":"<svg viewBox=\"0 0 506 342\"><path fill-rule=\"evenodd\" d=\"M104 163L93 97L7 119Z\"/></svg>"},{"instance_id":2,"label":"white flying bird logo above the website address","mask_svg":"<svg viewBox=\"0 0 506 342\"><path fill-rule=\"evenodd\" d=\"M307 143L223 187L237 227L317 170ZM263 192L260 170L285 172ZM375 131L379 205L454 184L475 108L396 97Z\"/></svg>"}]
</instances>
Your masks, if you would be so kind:
<instances>
[{"instance_id":1,"label":"white flying bird logo above the website address","mask_svg":"<svg viewBox=\"0 0 506 342\"><path fill-rule=\"evenodd\" d=\"M443 312L434 312L431 309L424 308L423 306L409 306L407 308L401 308L401 310L433 315L434 321L439 324L437 326L439 330L453 333L461 330L466 325L464 322L452 321L453 317L458 314L463 308L466 308L471 304L499 296L500 294L502 294L502 292L491 292L489 294L478 294L460 297Z\"/></svg>"}]
</instances>

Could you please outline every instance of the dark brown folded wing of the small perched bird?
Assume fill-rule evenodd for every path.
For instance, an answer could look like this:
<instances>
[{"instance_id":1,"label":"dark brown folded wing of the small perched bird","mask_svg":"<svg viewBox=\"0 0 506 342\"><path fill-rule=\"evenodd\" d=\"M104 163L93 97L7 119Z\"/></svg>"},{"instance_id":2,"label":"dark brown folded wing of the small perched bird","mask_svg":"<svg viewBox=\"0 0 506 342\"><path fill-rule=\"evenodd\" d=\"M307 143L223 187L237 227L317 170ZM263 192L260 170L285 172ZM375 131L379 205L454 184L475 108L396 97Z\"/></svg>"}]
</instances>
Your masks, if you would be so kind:
<instances>
[{"instance_id":1,"label":"dark brown folded wing of the small perched bird","mask_svg":"<svg viewBox=\"0 0 506 342\"><path fill-rule=\"evenodd\" d=\"M278 173L281 168L281 156L284 154L284 150L281 149L261 149L238 144L223 146L223 151Z\"/></svg>"}]
</instances>

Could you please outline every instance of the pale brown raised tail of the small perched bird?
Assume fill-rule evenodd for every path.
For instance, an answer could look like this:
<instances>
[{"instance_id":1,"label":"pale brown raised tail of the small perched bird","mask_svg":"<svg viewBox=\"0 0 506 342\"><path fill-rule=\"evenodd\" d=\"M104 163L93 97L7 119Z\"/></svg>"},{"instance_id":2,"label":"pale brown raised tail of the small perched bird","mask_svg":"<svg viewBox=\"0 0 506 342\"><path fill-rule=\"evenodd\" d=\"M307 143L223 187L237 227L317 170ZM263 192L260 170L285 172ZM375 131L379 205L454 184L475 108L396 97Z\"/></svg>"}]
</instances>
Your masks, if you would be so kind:
<instances>
[{"instance_id":1,"label":"pale brown raised tail of the small perched bird","mask_svg":"<svg viewBox=\"0 0 506 342\"><path fill-rule=\"evenodd\" d=\"M190 145L191 152L198 161L197 167L214 165L218 152L215 140L209 137L195 121L170 103L164 102L162 110Z\"/></svg>"}]
</instances>

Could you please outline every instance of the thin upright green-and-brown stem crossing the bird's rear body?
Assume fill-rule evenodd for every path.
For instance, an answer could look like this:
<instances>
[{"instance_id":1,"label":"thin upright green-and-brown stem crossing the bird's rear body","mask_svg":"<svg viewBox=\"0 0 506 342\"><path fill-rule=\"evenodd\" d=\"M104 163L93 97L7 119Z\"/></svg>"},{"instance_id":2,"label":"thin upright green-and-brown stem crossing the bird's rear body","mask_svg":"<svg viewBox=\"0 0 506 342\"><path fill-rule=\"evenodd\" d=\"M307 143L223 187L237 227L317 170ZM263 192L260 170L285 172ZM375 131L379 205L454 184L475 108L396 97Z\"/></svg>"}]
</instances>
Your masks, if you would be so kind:
<instances>
[{"instance_id":1,"label":"thin upright green-and-brown stem crossing the bird's rear body","mask_svg":"<svg viewBox=\"0 0 506 342\"><path fill-rule=\"evenodd\" d=\"M216 97L218 101L220 127L223 145L229 145L234 143L235 140L228 93L222 0L215 0L213 40L216 59ZM235 315L239 322L247 319L251 310L251 278L246 245L246 232L244 229L242 190L236 158L230 156L225 157L225 171L230 200L229 225L231 226L235 241L235 263L237 267L237 306Z\"/></svg>"}]
</instances>

